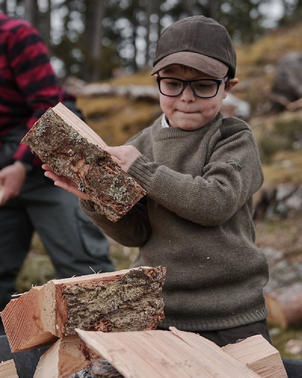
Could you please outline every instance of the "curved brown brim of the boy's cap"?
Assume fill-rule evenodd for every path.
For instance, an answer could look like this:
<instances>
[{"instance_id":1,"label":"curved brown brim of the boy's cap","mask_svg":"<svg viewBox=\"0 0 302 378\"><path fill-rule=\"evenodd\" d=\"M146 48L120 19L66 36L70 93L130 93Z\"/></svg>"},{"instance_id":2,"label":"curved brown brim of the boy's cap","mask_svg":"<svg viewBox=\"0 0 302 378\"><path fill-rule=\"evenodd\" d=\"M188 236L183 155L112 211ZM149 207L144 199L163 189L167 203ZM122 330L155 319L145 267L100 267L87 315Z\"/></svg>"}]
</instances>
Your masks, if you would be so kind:
<instances>
[{"instance_id":1,"label":"curved brown brim of the boy's cap","mask_svg":"<svg viewBox=\"0 0 302 378\"><path fill-rule=\"evenodd\" d=\"M154 75L160 70L163 70L164 68L173 64L180 64L186 67L195 68L196 70L216 77L217 79L225 77L228 72L228 66L222 62L219 62L217 59L213 59L198 53L192 53L191 51L180 51L178 53L168 55L157 62L150 75Z\"/></svg>"}]
</instances>

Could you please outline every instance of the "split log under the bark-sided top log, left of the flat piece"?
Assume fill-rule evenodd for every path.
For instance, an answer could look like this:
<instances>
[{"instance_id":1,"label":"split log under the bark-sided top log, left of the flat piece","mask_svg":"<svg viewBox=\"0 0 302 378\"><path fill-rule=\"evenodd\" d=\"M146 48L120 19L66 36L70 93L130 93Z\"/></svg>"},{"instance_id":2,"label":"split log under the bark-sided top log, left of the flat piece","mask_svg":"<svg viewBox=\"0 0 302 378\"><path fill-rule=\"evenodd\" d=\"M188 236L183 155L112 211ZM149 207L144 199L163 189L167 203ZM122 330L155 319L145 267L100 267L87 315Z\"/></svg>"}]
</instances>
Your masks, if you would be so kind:
<instances>
[{"instance_id":1,"label":"split log under the bark-sided top log, left of the flat piece","mask_svg":"<svg viewBox=\"0 0 302 378\"><path fill-rule=\"evenodd\" d=\"M33 378L69 378L96 358L79 336L65 336L41 356Z\"/></svg>"}]
</instances>

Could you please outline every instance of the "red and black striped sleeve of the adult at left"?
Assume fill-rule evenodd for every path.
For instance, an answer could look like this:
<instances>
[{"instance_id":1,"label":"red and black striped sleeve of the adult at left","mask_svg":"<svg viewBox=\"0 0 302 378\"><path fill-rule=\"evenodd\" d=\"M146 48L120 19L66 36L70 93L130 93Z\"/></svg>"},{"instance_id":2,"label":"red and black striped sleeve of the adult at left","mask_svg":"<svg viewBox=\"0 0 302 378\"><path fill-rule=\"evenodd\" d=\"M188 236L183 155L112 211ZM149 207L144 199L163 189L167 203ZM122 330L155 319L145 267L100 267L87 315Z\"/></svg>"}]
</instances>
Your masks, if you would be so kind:
<instances>
[{"instance_id":1,"label":"red and black striped sleeve of the adult at left","mask_svg":"<svg viewBox=\"0 0 302 378\"><path fill-rule=\"evenodd\" d=\"M49 108L63 100L61 88L52 70L45 43L37 30L28 24L20 25L9 40L8 62L14 74L14 81L26 99L31 111L27 129ZM20 145L15 160L36 163L29 147Z\"/></svg>"}]
</instances>

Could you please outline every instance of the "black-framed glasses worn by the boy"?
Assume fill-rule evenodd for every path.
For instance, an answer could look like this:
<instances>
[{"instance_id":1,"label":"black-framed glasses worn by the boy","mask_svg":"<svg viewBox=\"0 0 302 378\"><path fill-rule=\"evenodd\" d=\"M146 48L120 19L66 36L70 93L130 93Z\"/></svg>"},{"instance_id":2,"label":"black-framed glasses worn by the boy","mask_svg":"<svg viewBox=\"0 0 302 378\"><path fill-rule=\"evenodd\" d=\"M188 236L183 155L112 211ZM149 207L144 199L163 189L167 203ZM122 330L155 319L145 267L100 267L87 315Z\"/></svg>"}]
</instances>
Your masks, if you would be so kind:
<instances>
[{"instance_id":1,"label":"black-framed glasses worn by the boy","mask_svg":"<svg viewBox=\"0 0 302 378\"><path fill-rule=\"evenodd\" d=\"M220 84L225 83L228 77L221 80L216 79L197 79L182 80L175 77L157 77L156 81L159 91L164 96L177 97L182 94L187 85L190 85L195 96L200 98L211 98L217 95Z\"/></svg>"}]
</instances>

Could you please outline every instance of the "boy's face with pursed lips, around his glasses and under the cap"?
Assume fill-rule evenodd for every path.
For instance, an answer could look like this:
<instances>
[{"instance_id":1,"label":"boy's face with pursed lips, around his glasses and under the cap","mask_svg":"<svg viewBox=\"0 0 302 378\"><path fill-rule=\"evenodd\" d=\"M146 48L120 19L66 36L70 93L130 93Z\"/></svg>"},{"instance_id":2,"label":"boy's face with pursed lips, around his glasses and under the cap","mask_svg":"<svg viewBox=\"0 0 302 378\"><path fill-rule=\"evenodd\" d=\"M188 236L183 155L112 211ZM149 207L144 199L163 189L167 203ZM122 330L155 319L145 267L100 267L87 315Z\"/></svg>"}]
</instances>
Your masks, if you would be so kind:
<instances>
[{"instance_id":1,"label":"boy's face with pursed lips, around his glasses and under the cap","mask_svg":"<svg viewBox=\"0 0 302 378\"><path fill-rule=\"evenodd\" d=\"M198 73L198 71L184 70L180 65L171 65L159 72L160 77L175 77L182 80L217 79L217 77ZM222 77L219 79L223 79ZM222 99L238 79L230 79L230 85L219 86L218 93L212 98L200 98L194 95L191 87L186 85L182 94L177 97L159 95L160 107L169 119L170 127L179 127L183 130L196 130L210 122L219 112Z\"/></svg>"}]
</instances>

